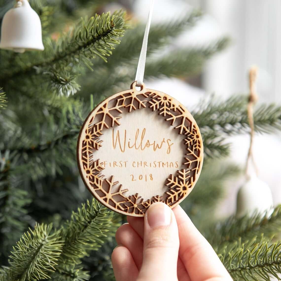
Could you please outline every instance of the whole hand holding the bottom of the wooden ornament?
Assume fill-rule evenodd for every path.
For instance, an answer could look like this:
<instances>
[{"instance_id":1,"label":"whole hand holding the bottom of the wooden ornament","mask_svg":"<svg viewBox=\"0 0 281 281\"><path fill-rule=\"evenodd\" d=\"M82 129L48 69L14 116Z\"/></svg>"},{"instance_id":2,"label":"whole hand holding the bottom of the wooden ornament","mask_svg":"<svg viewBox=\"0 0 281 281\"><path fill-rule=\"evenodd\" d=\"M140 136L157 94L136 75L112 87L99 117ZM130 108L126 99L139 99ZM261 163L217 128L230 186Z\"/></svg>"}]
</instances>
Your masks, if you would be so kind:
<instances>
[{"instance_id":1,"label":"whole hand holding the bottom of the wooden ornament","mask_svg":"<svg viewBox=\"0 0 281 281\"><path fill-rule=\"evenodd\" d=\"M153 203L127 217L111 260L116 281L231 281L212 246L178 205Z\"/></svg>"}]
</instances>

